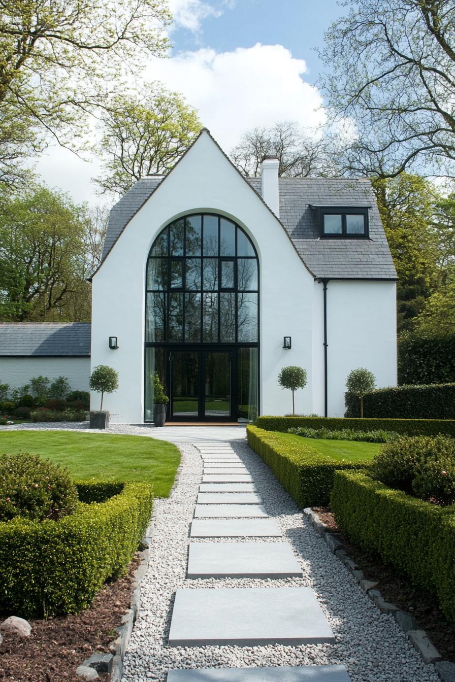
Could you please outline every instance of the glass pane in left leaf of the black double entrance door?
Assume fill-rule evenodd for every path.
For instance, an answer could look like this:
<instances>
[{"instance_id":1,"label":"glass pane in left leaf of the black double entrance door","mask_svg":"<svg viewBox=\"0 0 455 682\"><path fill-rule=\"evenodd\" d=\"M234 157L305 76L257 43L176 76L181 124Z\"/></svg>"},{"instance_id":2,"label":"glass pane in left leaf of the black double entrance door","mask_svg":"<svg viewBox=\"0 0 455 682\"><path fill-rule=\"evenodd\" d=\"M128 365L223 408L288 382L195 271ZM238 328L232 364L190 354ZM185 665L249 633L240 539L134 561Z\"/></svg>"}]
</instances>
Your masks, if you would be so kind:
<instances>
[{"instance_id":1,"label":"glass pane in left leaf of the black double entrance door","mask_svg":"<svg viewBox=\"0 0 455 682\"><path fill-rule=\"evenodd\" d=\"M199 415L199 353L173 351L171 417Z\"/></svg>"}]
</instances>

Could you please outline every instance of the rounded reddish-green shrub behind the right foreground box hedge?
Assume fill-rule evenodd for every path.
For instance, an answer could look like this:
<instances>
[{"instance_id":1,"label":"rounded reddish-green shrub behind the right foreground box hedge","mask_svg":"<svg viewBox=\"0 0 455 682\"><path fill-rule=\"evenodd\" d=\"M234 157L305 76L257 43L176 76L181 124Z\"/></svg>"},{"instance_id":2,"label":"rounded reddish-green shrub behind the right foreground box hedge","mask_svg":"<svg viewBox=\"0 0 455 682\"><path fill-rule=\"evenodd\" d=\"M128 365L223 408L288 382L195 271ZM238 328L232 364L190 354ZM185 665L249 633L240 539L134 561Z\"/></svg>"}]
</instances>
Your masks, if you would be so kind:
<instances>
[{"instance_id":1,"label":"rounded reddish-green shrub behind the right foreground box hedge","mask_svg":"<svg viewBox=\"0 0 455 682\"><path fill-rule=\"evenodd\" d=\"M402 437L387 443L372 463L373 478L442 505L455 503L455 439ZM435 488L431 488L434 484Z\"/></svg>"}]
</instances>

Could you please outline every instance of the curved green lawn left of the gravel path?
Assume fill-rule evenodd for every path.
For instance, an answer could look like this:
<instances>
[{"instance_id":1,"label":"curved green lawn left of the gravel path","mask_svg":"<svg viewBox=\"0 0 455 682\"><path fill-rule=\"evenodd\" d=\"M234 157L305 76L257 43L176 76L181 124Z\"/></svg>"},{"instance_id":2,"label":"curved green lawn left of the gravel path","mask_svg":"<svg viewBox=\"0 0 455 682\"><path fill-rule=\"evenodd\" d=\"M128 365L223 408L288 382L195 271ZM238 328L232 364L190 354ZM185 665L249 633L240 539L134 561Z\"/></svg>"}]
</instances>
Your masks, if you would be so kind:
<instances>
[{"instance_id":1,"label":"curved green lawn left of the gravel path","mask_svg":"<svg viewBox=\"0 0 455 682\"><path fill-rule=\"evenodd\" d=\"M66 466L75 479L147 481L156 497L167 497L180 462L172 443L146 436L71 431L0 432L0 453L39 454Z\"/></svg>"}]
</instances>

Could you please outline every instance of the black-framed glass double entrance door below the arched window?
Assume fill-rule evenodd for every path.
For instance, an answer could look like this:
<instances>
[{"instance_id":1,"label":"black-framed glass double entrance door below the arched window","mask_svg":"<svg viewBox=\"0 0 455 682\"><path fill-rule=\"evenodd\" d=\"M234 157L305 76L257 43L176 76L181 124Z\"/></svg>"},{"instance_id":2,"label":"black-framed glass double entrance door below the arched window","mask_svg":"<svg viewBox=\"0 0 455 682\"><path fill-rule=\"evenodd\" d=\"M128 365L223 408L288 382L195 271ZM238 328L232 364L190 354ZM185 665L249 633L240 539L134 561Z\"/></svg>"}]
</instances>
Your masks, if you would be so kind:
<instances>
[{"instance_id":1,"label":"black-framed glass double entrance door below the arched window","mask_svg":"<svg viewBox=\"0 0 455 682\"><path fill-rule=\"evenodd\" d=\"M232 351L171 351L171 421L236 419Z\"/></svg>"}]
</instances>

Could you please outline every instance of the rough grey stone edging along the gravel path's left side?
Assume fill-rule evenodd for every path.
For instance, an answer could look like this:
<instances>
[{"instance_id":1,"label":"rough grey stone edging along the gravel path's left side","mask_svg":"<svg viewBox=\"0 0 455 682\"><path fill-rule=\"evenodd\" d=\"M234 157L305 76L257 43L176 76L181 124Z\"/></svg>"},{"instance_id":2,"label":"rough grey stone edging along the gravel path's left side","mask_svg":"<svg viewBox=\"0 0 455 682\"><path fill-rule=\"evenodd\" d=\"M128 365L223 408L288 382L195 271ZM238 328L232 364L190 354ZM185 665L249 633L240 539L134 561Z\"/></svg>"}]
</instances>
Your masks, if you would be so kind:
<instances>
[{"instance_id":1,"label":"rough grey stone edging along the gravel path's left side","mask_svg":"<svg viewBox=\"0 0 455 682\"><path fill-rule=\"evenodd\" d=\"M183 453L182 460L175 473L175 479L171 492L169 492L169 497L171 498L175 492L175 488L178 485L181 469L183 467ZM149 567L150 554L151 554L151 542L153 534L155 532L155 519L156 513L153 507L153 513L150 518L149 526L145 535L141 540L141 545L143 549L138 552L138 557L141 559L141 563L138 565L136 572L134 574L133 591L131 595L130 608L128 608L121 618L121 625L115 627L115 631L118 633L117 639L115 639L111 645L110 649L113 653L111 654L93 654L86 661L84 661L77 668L76 672L80 674L80 677L87 679L96 679L96 677L89 677L90 671L95 670L98 672L110 672L111 682L121 682L121 677L123 674L123 658L126 654L126 649L130 642L130 637L134 623L138 619L141 610L141 582L147 573L147 568ZM93 672L92 672L93 674ZM98 675L97 675L98 677Z\"/></svg>"}]
</instances>

